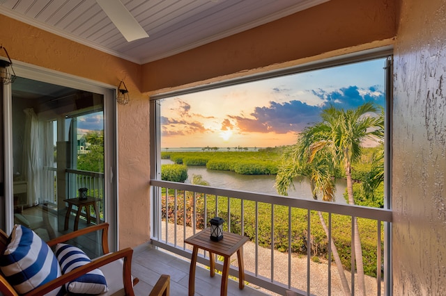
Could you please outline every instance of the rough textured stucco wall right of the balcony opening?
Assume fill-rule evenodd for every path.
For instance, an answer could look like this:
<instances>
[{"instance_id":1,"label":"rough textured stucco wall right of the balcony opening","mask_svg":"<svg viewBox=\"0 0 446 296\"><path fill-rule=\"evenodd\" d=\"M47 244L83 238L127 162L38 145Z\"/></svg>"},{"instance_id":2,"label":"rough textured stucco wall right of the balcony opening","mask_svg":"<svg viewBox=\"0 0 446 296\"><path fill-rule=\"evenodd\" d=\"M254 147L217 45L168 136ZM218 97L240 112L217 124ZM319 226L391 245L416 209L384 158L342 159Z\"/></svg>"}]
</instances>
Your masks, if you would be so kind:
<instances>
[{"instance_id":1,"label":"rough textured stucco wall right of the balcony opening","mask_svg":"<svg viewBox=\"0 0 446 296\"><path fill-rule=\"evenodd\" d=\"M394 50L394 295L445 295L445 28L445 1L403 1Z\"/></svg>"}]
</instances>

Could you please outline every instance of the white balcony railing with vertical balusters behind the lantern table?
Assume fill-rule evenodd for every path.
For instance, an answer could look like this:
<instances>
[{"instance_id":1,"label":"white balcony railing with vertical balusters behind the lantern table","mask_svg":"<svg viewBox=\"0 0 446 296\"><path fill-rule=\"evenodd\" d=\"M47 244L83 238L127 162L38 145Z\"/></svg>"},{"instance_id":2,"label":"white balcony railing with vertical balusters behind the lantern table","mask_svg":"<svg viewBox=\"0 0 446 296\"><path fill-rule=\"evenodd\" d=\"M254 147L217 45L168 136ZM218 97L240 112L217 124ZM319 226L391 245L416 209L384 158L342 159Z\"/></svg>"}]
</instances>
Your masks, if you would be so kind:
<instances>
[{"instance_id":1,"label":"white balcony railing with vertical balusters behind the lantern table","mask_svg":"<svg viewBox=\"0 0 446 296\"><path fill-rule=\"evenodd\" d=\"M210 218L223 217L224 230L251 239L244 250L245 280L280 295L286 289L300 295L343 294L337 267L328 264L333 260L332 241L352 295L357 293L358 278L351 264L355 262L352 229L357 220L368 274L366 294L390 295L389 210L169 181L151 180L151 186L153 245L190 258L192 248L184 239L207 227ZM209 266L208 258L202 252L198 261ZM305 268L300 265L302 258ZM230 274L236 277L232 263ZM221 270L222 264L217 262L217 268Z\"/></svg>"}]
</instances>

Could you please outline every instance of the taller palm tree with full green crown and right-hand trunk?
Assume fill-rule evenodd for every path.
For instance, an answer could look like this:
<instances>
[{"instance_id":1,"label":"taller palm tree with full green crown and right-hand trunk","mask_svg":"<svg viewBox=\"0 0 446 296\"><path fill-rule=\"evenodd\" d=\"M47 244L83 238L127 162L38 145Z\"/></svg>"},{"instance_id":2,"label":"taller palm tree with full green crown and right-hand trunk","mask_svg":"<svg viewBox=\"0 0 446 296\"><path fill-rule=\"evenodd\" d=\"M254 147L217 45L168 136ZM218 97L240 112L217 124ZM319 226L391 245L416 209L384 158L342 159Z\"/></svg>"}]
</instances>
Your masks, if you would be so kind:
<instances>
[{"instance_id":1,"label":"taller palm tree with full green crown and right-hand trunk","mask_svg":"<svg viewBox=\"0 0 446 296\"><path fill-rule=\"evenodd\" d=\"M343 108L330 106L322 111L322 122L312 126L312 132L309 134L308 145L312 151L310 161L318 154L325 153L328 149L333 156L333 163L339 163L344 167L348 204L355 204L351 164L360 158L362 143L365 140L383 139L384 113L381 112L379 116L375 117L368 115L377 112L378 107L372 102L367 102L355 110L344 110ZM365 295L364 265L357 217L353 218L353 227L358 288L360 295Z\"/></svg>"}]
</instances>

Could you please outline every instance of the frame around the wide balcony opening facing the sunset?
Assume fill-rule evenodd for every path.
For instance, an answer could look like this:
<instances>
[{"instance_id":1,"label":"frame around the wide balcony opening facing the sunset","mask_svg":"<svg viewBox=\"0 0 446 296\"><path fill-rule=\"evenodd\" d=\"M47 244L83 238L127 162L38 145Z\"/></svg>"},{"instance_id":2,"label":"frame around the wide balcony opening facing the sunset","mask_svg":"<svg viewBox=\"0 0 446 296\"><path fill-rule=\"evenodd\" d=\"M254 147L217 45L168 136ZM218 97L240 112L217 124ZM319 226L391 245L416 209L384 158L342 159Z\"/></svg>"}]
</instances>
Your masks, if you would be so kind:
<instances>
[{"instance_id":1,"label":"frame around the wide balcony opening facing the sunset","mask_svg":"<svg viewBox=\"0 0 446 296\"><path fill-rule=\"evenodd\" d=\"M217 88L224 88L230 85L238 85L242 83L248 83L252 81L260 81L263 79L276 78L279 76L286 76L291 74L298 74L302 72L309 72L318 69L325 69L329 67L336 67L340 65L347 65L351 63L359 63L367 60L373 60L377 58L387 58L385 71L385 99L386 99L386 112L385 112L385 209L392 208L391 199L391 164L392 164L392 60L393 60L393 47L379 47L374 49L368 49L365 51L357 51L351 54L345 54L341 56L333 56L331 58L325 58L316 60L310 63L304 63L301 65L295 65L293 67L286 67L268 72L261 72L252 75L240 76L234 79L226 79L223 81L217 81L214 83L203 83L202 85L182 88L171 92L162 92L154 94L149 97L150 100L150 151L151 151L151 179L161 180L161 122L160 122L160 103L158 100L168 97L176 97L183 94L191 94L194 92L201 92L203 90L213 90ZM160 217L157 217L157 213L160 213L161 204L157 202L161 192L157 192L155 188L151 188L151 222L152 226L156 225ZM157 210L157 211L154 211ZM387 240L387 236L390 236L390 225L386 228L386 241L390 244L390 240ZM151 236L157 237L156 227L151 227ZM386 246L387 247L390 246Z\"/></svg>"}]
</instances>

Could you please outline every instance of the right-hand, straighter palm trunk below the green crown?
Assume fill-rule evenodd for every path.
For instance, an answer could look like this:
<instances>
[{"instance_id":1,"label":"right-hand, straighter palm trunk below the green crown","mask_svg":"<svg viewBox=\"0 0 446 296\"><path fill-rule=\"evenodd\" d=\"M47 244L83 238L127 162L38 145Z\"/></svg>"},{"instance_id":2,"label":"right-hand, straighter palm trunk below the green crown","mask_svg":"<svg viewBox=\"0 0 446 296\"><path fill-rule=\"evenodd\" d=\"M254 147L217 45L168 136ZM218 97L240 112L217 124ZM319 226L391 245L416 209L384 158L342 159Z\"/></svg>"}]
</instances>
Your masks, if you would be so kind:
<instances>
[{"instance_id":1,"label":"right-hand, straighter palm trunk below the green crown","mask_svg":"<svg viewBox=\"0 0 446 296\"><path fill-rule=\"evenodd\" d=\"M347 193L348 193L348 204L355 204L355 199L353 199L353 179L351 178L351 164L346 161L346 179L347 179ZM355 260L356 260L356 272L357 272L357 286L359 293L365 296L365 281L364 281L364 263L362 262L362 247L360 239L360 231L357 227L357 218L353 220L353 231L355 237ZM354 264L352 262L352 264Z\"/></svg>"}]
</instances>

